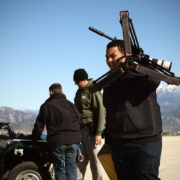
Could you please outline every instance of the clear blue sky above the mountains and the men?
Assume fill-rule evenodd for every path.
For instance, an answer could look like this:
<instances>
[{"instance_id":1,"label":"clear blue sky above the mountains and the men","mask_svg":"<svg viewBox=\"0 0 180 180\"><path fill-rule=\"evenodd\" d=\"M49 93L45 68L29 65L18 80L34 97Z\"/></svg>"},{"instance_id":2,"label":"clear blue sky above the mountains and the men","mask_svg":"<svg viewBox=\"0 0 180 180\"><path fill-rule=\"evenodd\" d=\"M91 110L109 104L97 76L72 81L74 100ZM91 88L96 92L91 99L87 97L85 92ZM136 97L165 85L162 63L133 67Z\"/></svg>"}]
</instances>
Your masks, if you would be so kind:
<instances>
[{"instance_id":1,"label":"clear blue sky above the mountains and the men","mask_svg":"<svg viewBox=\"0 0 180 180\"><path fill-rule=\"evenodd\" d=\"M144 53L171 61L180 76L179 0L0 0L0 107L38 110L55 82L73 102L74 70L94 79L109 70L109 40L89 26L122 39L126 10Z\"/></svg>"}]
</instances>

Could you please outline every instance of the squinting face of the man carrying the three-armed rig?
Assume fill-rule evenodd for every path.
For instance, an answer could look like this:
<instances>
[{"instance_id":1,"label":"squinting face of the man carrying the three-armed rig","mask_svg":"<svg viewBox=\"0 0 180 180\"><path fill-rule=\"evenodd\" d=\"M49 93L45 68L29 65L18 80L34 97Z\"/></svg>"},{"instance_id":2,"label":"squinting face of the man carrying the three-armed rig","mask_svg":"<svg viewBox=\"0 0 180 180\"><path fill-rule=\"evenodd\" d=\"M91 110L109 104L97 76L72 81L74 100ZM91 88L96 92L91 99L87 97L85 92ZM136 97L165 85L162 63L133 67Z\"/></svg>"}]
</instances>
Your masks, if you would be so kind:
<instances>
[{"instance_id":1,"label":"squinting face of the man carrying the three-armed rig","mask_svg":"<svg viewBox=\"0 0 180 180\"><path fill-rule=\"evenodd\" d=\"M115 68L120 63L123 63L125 61L125 58L122 58L120 60L117 60L120 57L123 57L124 54L121 53L118 49L118 47L111 47L107 49L106 51L106 63L109 66L110 69Z\"/></svg>"}]
</instances>

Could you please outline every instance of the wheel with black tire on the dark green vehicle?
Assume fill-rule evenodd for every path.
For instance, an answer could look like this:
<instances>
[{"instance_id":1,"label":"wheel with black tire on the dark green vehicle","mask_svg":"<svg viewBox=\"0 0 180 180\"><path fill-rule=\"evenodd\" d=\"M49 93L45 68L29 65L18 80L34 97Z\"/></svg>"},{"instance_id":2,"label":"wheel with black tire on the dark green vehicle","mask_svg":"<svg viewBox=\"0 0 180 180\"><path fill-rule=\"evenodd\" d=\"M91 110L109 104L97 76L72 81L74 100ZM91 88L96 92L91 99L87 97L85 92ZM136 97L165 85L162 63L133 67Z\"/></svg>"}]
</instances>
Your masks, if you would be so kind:
<instances>
[{"instance_id":1,"label":"wheel with black tire on the dark green vehicle","mask_svg":"<svg viewBox=\"0 0 180 180\"><path fill-rule=\"evenodd\" d=\"M34 162L22 162L9 173L7 180L52 180L48 170Z\"/></svg>"}]
</instances>

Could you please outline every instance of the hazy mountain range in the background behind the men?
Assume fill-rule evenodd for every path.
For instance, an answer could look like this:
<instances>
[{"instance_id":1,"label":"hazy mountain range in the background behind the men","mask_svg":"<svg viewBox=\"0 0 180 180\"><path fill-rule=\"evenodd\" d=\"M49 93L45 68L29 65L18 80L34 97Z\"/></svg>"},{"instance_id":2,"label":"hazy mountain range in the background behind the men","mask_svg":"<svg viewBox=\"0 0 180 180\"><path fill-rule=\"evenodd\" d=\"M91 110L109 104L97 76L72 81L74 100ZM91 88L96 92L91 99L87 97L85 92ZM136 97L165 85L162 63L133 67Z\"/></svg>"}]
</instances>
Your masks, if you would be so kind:
<instances>
[{"instance_id":1,"label":"hazy mountain range in the background behind the men","mask_svg":"<svg viewBox=\"0 0 180 180\"><path fill-rule=\"evenodd\" d=\"M160 84L157 100L161 107L163 132L180 133L180 87ZM9 122L16 132L30 133L38 111L0 107L0 122Z\"/></svg>"}]
</instances>

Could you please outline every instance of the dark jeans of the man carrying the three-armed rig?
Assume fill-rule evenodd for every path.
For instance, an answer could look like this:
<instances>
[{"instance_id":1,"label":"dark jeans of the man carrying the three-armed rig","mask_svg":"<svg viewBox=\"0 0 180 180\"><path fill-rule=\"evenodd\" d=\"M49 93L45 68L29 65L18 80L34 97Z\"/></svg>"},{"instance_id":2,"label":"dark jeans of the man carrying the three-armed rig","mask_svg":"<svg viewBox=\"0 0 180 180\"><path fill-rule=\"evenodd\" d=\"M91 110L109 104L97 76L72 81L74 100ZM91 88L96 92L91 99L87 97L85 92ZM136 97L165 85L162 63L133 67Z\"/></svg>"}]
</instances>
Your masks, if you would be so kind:
<instances>
[{"instance_id":1,"label":"dark jeans of the man carrying the three-armed rig","mask_svg":"<svg viewBox=\"0 0 180 180\"><path fill-rule=\"evenodd\" d=\"M162 141L123 143L112 141L112 159L118 180L160 180Z\"/></svg>"}]
</instances>

